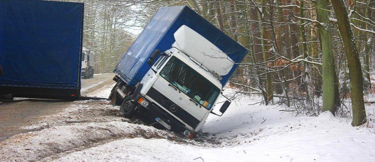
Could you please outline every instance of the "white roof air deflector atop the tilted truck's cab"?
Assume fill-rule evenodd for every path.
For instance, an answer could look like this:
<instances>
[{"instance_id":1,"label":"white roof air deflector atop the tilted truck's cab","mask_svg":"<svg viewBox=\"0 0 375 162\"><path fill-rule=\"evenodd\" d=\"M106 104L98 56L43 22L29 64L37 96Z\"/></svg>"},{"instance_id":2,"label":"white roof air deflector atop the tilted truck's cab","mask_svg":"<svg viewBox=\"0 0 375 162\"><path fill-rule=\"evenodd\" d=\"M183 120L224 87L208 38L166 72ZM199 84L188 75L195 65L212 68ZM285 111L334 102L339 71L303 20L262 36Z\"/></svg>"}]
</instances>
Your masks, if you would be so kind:
<instances>
[{"instance_id":1,"label":"white roof air deflector atop the tilted truck's cab","mask_svg":"<svg viewBox=\"0 0 375 162\"><path fill-rule=\"evenodd\" d=\"M178 48L211 72L226 75L233 67L233 60L223 51L193 29L182 25L174 34Z\"/></svg>"}]
</instances>

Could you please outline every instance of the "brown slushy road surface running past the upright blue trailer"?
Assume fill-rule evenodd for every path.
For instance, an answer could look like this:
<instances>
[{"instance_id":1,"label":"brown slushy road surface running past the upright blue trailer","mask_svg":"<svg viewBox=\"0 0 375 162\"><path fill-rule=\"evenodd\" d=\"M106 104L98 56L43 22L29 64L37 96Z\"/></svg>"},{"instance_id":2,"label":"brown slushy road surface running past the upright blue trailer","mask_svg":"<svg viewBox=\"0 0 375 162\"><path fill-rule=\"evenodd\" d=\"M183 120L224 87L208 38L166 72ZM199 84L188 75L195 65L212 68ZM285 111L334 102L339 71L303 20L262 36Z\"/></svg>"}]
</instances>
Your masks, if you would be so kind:
<instances>
[{"instance_id":1,"label":"brown slushy road surface running past the upright blue trailer","mask_svg":"<svg viewBox=\"0 0 375 162\"><path fill-rule=\"evenodd\" d=\"M114 83L113 76L114 74L95 74L93 78L82 79L82 96L90 96L95 90ZM21 127L42 120L45 115L59 113L70 104L70 101L23 98L16 98L13 102L0 102L0 141L16 134L37 131Z\"/></svg>"}]
</instances>

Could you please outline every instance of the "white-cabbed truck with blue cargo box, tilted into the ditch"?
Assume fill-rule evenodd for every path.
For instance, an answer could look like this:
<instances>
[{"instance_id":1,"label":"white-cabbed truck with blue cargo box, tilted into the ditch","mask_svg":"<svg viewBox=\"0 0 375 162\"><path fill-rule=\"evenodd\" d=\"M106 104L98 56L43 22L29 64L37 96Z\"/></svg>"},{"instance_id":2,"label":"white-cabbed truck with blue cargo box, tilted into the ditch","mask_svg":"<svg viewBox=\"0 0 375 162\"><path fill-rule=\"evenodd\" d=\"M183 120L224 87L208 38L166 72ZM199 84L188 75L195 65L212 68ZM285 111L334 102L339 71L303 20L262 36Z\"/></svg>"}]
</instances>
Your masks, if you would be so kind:
<instances>
[{"instance_id":1,"label":"white-cabbed truck with blue cargo box, tilted into the ditch","mask_svg":"<svg viewBox=\"0 0 375 162\"><path fill-rule=\"evenodd\" d=\"M125 117L196 136L247 50L187 6L162 7L114 69L109 96Z\"/></svg>"}]
</instances>

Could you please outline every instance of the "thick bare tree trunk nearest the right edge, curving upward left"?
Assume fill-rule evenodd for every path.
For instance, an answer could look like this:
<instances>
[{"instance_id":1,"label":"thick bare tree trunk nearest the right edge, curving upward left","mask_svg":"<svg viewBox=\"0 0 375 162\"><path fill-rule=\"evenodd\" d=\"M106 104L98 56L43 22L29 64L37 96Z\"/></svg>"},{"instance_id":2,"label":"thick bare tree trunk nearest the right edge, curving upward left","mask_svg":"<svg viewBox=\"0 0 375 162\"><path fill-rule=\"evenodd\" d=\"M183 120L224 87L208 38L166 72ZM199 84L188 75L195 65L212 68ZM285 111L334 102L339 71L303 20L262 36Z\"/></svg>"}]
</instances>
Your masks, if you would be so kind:
<instances>
[{"instance_id":1,"label":"thick bare tree trunk nearest the right edge, curving upward left","mask_svg":"<svg viewBox=\"0 0 375 162\"><path fill-rule=\"evenodd\" d=\"M337 27L344 42L349 66L350 91L353 107L352 126L366 123L366 110L363 102L363 76L361 62L347 10L343 0L331 0L337 18Z\"/></svg>"}]
</instances>

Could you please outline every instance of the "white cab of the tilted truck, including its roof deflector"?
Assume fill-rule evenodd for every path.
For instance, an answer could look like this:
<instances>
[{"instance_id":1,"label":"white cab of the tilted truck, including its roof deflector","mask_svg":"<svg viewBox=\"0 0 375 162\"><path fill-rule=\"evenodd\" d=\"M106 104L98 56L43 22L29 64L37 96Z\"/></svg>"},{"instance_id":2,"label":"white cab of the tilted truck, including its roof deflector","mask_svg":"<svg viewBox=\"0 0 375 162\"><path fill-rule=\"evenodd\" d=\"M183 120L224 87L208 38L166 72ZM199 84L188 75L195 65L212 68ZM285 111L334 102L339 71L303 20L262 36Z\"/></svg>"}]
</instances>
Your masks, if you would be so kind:
<instances>
[{"instance_id":1,"label":"white cab of the tilted truck, including its roof deflector","mask_svg":"<svg viewBox=\"0 0 375 162\"><path fill-rule=\"evenodd\" d=\"M150 57L150 70L129 93L132 97L122 102L121 111L126 116L138 106L145 107L166 129L192 137L201 129L222 92L220 76L227 74L234 63L186 25L174 36L176 42L171 49L161 54L154 52ZM117 92L123 98L128 96L128 91ZM223 113L229 104L227 101L220 111Z\"/></svg>"}]
</instances>

